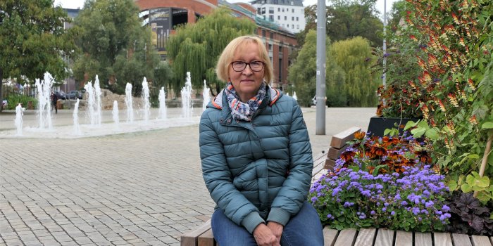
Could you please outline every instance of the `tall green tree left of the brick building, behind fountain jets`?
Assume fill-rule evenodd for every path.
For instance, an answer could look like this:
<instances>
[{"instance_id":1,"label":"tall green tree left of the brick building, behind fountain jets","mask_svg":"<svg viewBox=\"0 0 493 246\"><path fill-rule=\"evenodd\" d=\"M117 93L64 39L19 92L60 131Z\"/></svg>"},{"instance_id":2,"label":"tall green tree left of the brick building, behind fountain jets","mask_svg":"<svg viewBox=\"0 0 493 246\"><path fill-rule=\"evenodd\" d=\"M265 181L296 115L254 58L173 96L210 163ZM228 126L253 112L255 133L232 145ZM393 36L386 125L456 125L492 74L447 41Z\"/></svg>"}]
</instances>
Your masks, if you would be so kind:
<instances>
[{"instance_id":1,"label":"tall green tree left of the brick building, behind fountain jets","mask_svg":"<svg viewBox=\"0 0 493 246\"><path fill-rule=\"evenodd\" d=\"M87 0L75 18L75 41L82 54L73 66L75 79L86 82L98 75L101 88L125 93L142 91L142 79L154 80L159 56L151 43L151 29L142 26L132 0Z\"/></svg>"}]
</instances>

